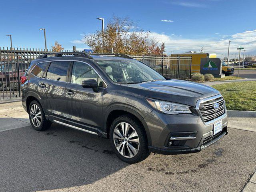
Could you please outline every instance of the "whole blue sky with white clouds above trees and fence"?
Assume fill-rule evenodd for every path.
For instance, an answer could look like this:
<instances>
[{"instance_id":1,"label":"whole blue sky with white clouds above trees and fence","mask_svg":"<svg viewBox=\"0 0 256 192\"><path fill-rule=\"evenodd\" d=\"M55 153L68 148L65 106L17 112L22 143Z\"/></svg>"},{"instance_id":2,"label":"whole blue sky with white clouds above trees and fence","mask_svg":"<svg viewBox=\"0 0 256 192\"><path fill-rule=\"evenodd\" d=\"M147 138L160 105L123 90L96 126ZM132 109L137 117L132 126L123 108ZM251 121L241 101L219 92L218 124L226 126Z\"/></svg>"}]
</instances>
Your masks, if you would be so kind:
<instances>
[{"instance_id":1,"label":"whole blue sky with white clouds above trees and fence","mask_svg":"<svg viewBox=\"0 0 256 192\"><path fill-rule=\"evenodd\" d=\"M256 54L256 0L11 0L1 3L0 46L48 48L58 41L65 49L81 43L81 34L101 28L98 17L107 22L113 15L129 16L150 37L166 43L169 54L199 51L225 54L231 40L231 54L244 46Z\"/></svg>"}]
</instances>

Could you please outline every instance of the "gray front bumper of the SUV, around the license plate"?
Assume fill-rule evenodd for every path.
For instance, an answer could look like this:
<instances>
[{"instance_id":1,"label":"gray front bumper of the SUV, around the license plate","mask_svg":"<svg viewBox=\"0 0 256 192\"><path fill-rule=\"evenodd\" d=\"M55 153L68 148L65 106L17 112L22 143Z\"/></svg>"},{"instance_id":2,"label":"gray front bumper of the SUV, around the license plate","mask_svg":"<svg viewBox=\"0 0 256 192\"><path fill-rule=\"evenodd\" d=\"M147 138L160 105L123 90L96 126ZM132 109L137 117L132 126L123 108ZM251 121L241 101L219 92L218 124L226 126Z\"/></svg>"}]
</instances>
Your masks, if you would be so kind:
<instances>
[{"instance_id":1,"label":"gray front bumper of the SUV, around the license plate","mask_svg":"<svg viewBox=\"0 0 256 192\"><path fill-rule=\"evenodd\" d=\"M220 120L222 120L222 132L215 136L213 126ZM192 114L168 115L153 110L144 118L144 121L148 126L149 151L158 154L200 152L228 133L226 114L211 124L205 125L196 111ZM178 139L173 141L170 137ZM170 141L172 145L169 144Z\"/></svg>"}]
</instances>

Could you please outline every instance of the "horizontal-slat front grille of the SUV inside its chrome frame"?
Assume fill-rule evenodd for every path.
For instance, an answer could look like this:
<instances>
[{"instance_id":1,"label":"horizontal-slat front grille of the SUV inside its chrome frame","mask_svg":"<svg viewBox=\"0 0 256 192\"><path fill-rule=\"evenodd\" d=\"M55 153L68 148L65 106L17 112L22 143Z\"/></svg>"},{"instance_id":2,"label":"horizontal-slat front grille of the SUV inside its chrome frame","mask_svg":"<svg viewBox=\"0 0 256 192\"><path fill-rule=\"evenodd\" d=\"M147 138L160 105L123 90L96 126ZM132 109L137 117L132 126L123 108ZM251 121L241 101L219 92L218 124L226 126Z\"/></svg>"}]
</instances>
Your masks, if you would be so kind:
<instances>
[{"instance_id":1,"label":"horizontal-slat front grille of the SUV inside its chrome frame","mask_svg":"<svg viewBox=\"0 0 256 192\"><path fill-rule=\"evenodd\" d=\"M218 103L219 108L214 109L214 104ZM209 122L214 120L223 114L225 114L225 102L222 96L219 98L212 99L210 101L206 101L200 104L199 106L200 113L204 122Z\"/></svg>"}]
</instances>

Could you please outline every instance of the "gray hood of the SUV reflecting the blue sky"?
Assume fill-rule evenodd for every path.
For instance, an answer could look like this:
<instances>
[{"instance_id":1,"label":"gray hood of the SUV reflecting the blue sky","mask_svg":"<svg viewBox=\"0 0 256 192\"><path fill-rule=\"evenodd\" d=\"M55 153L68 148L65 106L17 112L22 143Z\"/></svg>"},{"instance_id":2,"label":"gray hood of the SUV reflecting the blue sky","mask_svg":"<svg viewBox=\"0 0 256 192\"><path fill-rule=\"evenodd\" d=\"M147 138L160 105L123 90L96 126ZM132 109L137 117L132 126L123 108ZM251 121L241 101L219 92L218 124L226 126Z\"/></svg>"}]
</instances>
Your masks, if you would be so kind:
<instances>
[{"instance_id":1,"label":"gray hood of the SUV reflecting the blue sky","mask_svg":"<svg viewBox=\"0 0 256 192\"><path fill-rule=\"evenodd\" d=\"M155 81L122 86L124 90L145 97L194 107L198 99L220 94L210 86L183 80Z\"/></svg>"}]
</instances>

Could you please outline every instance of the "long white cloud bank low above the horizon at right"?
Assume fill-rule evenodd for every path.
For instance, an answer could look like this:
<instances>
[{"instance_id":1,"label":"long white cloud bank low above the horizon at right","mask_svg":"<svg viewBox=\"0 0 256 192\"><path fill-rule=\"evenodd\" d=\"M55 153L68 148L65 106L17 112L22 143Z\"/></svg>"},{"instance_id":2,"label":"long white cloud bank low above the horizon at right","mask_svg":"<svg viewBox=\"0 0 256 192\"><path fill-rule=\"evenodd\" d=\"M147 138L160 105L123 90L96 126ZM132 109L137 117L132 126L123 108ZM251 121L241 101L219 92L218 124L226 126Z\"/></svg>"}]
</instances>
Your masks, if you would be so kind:
<instances>
[{"instance_id":1,"label":"long white cloud bank low above the horizon at right","mask_svg":"<svg viewBox=\"0 0 256 192\"><path fill-rule=\"evenodd\" d=\"M208 53L225 54L228 52L228 40L230 42L230 54L237 53L236 48L239 46L244 46L247 54L256 53L256 30L245 31L241 33L236 33L228 36L229 39L220 38L212 39L192 39L192 38L182 38L180 36L159 34L156 32L150 32L149 38L156 38L160 43L165 42L166 52L174 53L184 53L187 51L199 51L201 47L204 47L204 51Z\"/></svg>"}]
</instances>

